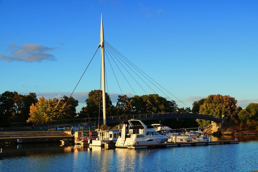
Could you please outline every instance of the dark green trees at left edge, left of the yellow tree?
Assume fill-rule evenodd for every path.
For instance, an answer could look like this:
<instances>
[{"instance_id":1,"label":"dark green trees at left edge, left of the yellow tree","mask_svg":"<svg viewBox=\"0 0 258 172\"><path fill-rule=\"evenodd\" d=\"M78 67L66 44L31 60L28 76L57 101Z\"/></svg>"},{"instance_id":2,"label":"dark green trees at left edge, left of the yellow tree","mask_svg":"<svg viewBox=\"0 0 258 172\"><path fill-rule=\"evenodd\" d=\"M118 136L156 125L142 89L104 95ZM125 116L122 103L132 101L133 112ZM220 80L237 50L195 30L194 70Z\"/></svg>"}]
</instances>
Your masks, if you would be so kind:
<instances>
[{"instance_id":1,"label":"dark green trees at left edge, left of the yellow tree","mask_svg":"<svg viewBox=\"0 0 258 172\"><path fill-rule=\"evenodd\" d=\"M26 121L29 117L30 105L37 102L35 93L28 95L6 91L0 94L0 123Z\"/></svg>"}]
</instances>

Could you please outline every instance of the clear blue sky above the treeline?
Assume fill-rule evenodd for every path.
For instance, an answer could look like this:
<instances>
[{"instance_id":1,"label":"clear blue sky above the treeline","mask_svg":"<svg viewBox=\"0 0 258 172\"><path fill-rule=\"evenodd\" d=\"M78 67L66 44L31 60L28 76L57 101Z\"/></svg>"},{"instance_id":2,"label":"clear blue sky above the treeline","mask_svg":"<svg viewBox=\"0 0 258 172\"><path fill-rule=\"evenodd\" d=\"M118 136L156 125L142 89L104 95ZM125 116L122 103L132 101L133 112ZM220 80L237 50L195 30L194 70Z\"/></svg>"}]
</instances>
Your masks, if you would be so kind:
<instances>
[{"instance_id":1,"label":"clear blue sky above the treeline","mask_svg":"<svg viewBox=\"0 0 258 172\"><path fill-rule=\"evenodd\" d=\"M257 8L257 1L0 0L0 93L69 96L99 45L102 13L105 40L187 106L222 94L245 108L258 102ZM107 59L106 68L115 103L121 92ZM123 93L134 95L116 72ZM100 50L73 94L77 110L99 80Z\"/></svg>"}]
</instances>

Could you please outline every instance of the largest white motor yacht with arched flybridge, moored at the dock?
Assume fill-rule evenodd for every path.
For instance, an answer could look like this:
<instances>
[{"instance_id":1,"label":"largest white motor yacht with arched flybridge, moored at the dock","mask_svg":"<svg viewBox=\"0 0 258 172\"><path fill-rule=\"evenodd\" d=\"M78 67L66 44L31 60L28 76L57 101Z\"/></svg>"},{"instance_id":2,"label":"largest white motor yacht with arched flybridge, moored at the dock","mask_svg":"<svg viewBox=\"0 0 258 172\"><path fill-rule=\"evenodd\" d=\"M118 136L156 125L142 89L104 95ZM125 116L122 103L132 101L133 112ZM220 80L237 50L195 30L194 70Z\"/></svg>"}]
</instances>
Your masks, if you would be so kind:
<instances>
[{"instance_id":1,"label":"largest white motor yacht with arched flybridge, moored at the dock","mask_svg":"<svg viewBox=\"0 0 258 172\"><path fill-rule=\"evenodd\" d=\"M151 126L147 127L142 121L131 119L129 125L124 124L116 141L116 147L132 145L165 143L168 137L160 135Z\"/></svg>"}]
</instances>

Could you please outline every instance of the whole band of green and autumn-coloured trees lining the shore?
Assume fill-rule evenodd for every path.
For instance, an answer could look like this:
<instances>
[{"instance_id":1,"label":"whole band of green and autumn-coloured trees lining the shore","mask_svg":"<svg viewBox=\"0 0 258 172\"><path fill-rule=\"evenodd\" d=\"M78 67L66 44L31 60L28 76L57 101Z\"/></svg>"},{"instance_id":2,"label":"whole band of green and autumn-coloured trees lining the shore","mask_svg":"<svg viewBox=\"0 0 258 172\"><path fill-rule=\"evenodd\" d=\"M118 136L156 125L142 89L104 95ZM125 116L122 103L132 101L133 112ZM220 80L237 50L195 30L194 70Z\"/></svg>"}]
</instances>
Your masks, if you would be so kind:
<instances>
[{"instance_id":1,"label":"whole band of green and autumn-coloured trees lining the shore","mask_svg":"<svg viewBox=\"0 0 258 172\"><path fill-rule=\"evenodd\" d=\"M98 117L102 114L102 91L92 90L85 100L85 107L76 112L78 100L73 97L62 96L59 99L37 99L36 93L22 95L17 92L6 91L0 94L0 128L10 126L13 122L51 121L58 119L74 119ZM66 104L66 106L65 106ZM213 133L210 127L205 131L213 134L257 135L258 134L258 103L249 103L243 109L237 107L237 100L229 95L209 95L192 103L190 107L180 107L174 100L167 100L158 94L119 95L114 105L106 93L107 116L162 113L162 112L196 112L220 115L227 119L221 130ZM195 128L211 126L211 121L203 119L160 119L149 123L162 123L172 128Z\"/></svg>"}]
</instances>

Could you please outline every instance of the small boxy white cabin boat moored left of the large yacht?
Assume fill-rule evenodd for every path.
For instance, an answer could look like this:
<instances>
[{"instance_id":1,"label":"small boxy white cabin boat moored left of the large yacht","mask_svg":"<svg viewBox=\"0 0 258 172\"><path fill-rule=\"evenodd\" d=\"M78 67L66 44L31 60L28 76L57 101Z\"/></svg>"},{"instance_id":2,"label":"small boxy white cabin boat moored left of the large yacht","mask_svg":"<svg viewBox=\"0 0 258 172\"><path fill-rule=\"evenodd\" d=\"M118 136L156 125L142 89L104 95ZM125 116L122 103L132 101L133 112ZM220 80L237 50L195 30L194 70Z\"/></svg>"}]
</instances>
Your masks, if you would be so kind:
<instances>
[{"instance_id":1,"label":"small boxy white cabin boat moored left of the large yacht","mask_svg":"<svg viewBox=\"0 0 258 172\"><path fill-rule=\"evenodd\" d=\"M118 139L118 133L120 132L119 129L112 129L112 130L100 130L97 131L98 136L91 136L88 139L89 146L103 146L104 143L113 142L116 143Z\"/></svg>"}]
</instances>

